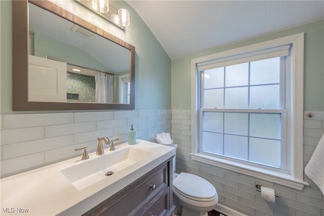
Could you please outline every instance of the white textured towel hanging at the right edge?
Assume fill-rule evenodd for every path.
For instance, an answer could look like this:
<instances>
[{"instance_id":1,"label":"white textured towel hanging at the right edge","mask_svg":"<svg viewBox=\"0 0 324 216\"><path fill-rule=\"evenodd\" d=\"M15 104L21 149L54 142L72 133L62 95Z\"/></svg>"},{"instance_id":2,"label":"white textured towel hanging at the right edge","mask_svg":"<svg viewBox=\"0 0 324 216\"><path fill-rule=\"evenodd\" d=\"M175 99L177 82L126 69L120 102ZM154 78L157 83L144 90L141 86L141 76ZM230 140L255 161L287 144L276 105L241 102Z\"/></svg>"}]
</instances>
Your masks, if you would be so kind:
<instances>
[{"instance_id":1,"label":"white textured towel hanging at the right edge","mask_svg":"<svg viewBox=\"0 0 324 216\"><path fill-rule=\"evenodd\" d=\"M324 134L320 138L312 157L305 167L305 174L312 179L324 194Z\"/></svg>"}]
</instances>

